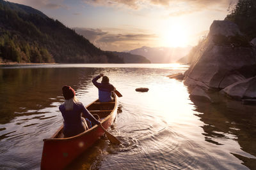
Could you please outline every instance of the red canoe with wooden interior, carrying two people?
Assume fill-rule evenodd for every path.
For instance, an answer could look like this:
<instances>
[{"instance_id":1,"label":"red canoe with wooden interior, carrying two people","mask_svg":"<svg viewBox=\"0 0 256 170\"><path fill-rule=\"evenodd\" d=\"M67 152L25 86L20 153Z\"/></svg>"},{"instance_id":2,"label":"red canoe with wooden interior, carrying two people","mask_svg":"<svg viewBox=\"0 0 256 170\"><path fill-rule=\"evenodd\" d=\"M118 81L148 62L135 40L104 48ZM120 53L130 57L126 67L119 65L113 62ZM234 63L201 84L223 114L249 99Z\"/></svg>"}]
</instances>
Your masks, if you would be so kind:
<instances>
[{"instance_id":1,"label":"red canoe with wooden interior, carrying two people","mask_svg":"<svg viewBox=\"0 0 256 170\"><path fill-rule=\"evenodd\" d=\"M100 122L105 129L113 124L117 114L117 100L108 103L100 103L99 100L86 106L92 114L100 117ZM49 139L44 139L44 149L42 153L41 169L63 169L72 160L76 159L87 148L97 141L104 131L95 125L81 134L70 138L61 138L63 136L63 125Z\"/></svg>"}]
</instances>

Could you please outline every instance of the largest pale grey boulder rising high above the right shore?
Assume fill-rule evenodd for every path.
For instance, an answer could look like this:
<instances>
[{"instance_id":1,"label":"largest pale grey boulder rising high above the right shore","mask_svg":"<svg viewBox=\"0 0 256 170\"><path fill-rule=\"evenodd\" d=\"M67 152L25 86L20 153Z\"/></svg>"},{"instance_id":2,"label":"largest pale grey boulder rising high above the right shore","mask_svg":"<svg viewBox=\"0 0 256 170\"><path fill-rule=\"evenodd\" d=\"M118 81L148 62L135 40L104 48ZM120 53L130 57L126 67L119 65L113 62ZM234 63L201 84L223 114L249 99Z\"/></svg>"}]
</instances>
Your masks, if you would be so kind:
<instances>
[{"instance_id":1,"label":"largest pale grey boulder rising high above the right shore","mask_svg":"<svg viewBox=\"0 0 256 170\"><path fill-rule=\"evenodd\" d=\"M223 89L256 74L255 53L233 22L214 21L194 53L184 83L203 89Z\"/></svg>"}]
</instances>

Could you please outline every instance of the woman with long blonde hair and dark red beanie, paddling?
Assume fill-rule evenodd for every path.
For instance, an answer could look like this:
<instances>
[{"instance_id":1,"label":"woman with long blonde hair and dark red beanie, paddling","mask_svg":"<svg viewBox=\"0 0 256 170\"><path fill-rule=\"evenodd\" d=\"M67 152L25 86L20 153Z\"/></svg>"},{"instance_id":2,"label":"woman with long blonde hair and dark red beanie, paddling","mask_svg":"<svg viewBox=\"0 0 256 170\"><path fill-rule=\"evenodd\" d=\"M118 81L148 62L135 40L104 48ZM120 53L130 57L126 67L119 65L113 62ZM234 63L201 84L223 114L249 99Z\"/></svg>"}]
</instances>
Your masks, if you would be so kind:
<instances>
[{"instance_id":1,"label":"woman with long blonde hair and dark red beanie, paddling","mask_svg":"<svg viewBox=\"0 0 256 170\"><path fill-rule=\"evenodd\" d=\"M92 114L84 108L83 104L76 99L76 92L71 87L65 85L62 87L65 102L60 105L59 109L64 118L63 134L65 138L75 136L86 130L86 122L83 121L81 113L84 118L88 118L94 124L100 124Z\"/></svg>"}]
</instances>

